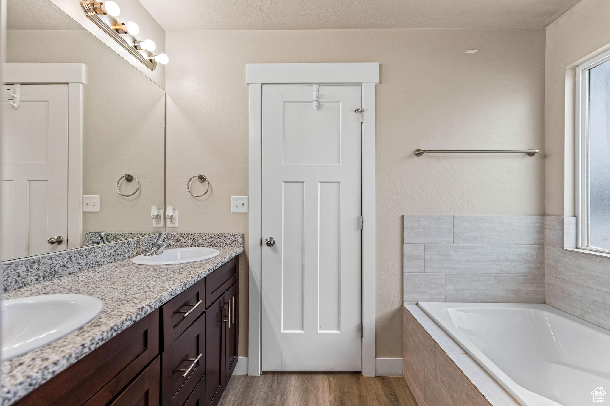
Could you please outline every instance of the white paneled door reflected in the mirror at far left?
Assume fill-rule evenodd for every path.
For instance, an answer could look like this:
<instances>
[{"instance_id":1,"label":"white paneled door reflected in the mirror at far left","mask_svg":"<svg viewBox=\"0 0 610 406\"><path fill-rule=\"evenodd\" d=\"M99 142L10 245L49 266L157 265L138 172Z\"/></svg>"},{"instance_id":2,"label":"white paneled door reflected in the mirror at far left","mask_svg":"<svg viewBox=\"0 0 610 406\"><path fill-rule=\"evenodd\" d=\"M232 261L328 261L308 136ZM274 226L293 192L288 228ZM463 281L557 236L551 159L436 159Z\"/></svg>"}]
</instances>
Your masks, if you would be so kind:
<instances>
[{"instance_id":1,"label":"white paneled door reflected in the mirror at far left","mask_svg":"<svg viewBox=\"0 0 610 406\"><path fill-rule=\"evenodd\" d=\"M1 259L67 246L68 85L21 85L19 99L2 102Z\"/></svg>"}]
</instances>

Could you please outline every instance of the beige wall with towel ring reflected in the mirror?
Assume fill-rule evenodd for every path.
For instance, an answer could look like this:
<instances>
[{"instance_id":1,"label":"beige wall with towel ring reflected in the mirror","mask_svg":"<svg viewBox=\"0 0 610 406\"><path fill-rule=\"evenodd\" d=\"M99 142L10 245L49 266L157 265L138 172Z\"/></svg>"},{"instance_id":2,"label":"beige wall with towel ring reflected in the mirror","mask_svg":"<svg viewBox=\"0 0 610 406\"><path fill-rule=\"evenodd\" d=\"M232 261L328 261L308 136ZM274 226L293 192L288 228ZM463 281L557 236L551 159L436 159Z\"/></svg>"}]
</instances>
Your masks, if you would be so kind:
<instances>
[{"instance_id":1,"label":"beige wall with towel ring reflected in the mirror","mask_svg":"<svg viewBox=\"0 0 610 406\"><path fill-rule=\"evenodd\" d=\"M7 30L6 57L86 65L83 194L100 195L101 211L82 213L83 231L158 232L150 206L163 206L165 91L87 30ZM132 197L117 193L123 173L140 181Z\"/></svg>"}]
</instances>

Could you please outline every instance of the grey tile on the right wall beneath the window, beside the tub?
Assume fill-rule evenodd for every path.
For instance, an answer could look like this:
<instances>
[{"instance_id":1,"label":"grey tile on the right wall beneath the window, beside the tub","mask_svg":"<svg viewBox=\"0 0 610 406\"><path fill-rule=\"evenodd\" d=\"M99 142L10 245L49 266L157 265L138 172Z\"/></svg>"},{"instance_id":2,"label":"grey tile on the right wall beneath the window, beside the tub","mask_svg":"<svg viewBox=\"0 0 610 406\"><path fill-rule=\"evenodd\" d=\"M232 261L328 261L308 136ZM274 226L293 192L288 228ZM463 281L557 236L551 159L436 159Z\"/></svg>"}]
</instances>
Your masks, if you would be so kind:
<instances>
[{"instance_id":1,"label":"grey tile on the right wall beneath the window, beside the tub","mask_svg":"<svg viewBox=\"0 0 610 406\"><path fill-rule=\"evenodd\" d=\"M576 217L547 216L545 235L546 303L610 329L610 258L570 250Z\"/></svg>"}]
</instances>

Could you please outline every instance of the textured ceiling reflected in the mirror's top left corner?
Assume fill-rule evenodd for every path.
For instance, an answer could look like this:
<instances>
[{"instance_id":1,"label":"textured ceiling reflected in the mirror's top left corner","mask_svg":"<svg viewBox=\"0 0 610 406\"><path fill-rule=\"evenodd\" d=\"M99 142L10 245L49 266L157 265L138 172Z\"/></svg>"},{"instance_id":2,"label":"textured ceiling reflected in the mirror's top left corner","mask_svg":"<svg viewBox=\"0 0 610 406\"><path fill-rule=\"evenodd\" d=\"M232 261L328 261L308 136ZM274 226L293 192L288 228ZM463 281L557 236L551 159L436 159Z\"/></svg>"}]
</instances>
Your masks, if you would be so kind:
<instances>
[{"instance_id":1,"label":"textured ceiling reflected in the mirror's top left corner","mask_svg":"<svg viewBox=\"0 0 610 406\"><path fill-rule=\"evenodd\" d=\"M9 30L82 30L49 0L8 0L6 27Z\"/></svg>"}]
</instances>

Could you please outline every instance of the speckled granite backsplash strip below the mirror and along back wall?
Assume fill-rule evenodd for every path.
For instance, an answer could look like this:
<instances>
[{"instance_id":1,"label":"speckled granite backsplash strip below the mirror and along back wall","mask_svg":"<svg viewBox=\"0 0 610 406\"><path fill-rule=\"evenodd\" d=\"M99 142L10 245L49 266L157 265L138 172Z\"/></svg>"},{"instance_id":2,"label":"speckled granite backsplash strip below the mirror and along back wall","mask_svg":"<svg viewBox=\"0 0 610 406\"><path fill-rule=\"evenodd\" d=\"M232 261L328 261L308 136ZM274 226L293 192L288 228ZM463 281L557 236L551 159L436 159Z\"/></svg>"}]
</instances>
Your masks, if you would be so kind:
<instances>
[{"instance_id":1,"label":"speckled granite backsplash strip below the mirror and along back wall","mask_svg":"<svg viewBox=\"0 0 610 406\"><path fill-rule=\"evenodd\" d=\"M4 261L4 292L131 258L149 250L154 238L151 235ZM175 248L243 247L241 233L177 233L171 238L176 242Z\"/></svg>"}]
</instances>

